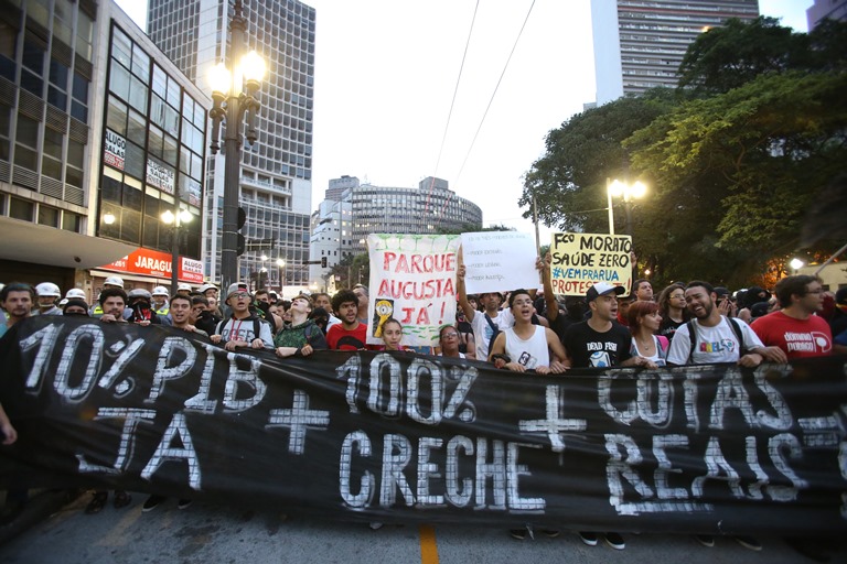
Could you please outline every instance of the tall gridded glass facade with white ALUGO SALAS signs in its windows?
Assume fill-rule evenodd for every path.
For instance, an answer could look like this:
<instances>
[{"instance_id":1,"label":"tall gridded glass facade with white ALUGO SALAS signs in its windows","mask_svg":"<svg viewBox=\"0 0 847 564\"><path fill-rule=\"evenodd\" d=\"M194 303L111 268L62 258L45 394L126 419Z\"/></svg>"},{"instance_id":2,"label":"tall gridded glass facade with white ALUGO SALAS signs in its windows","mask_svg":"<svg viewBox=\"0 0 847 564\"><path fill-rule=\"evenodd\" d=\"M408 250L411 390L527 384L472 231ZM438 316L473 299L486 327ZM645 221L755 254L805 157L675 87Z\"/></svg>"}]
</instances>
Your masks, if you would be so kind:
<instances>
[{"instance_id":1,"label":"tall gridded glass facade with white ALUGO SALAS signs in its windows","mask_svg":"<svg viewBox=\"0 0 847 564\"><path fill-rule=\"evenodd\" d=\"M185 209L180 253L199 259L206 110L119 25L110 36L97 232L170 251L161 215Z\"/></svg>"}]
</instances>

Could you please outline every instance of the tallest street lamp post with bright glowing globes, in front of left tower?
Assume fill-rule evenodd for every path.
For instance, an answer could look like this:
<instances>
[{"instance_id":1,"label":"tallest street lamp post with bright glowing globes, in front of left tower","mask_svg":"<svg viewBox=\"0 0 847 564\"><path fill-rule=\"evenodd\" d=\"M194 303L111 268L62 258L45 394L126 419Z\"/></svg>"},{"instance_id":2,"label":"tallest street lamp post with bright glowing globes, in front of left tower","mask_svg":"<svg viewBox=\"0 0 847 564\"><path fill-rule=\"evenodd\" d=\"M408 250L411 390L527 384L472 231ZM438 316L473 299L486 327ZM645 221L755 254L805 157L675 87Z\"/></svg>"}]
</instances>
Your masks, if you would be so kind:
<instances>
[{"instance_id":1,"label":"tallest street lamp post with bright glowing globes, in front of left tower","mask_svg":"<svg viewBox=\"0 0 847 564\"><path fill-rule=\"evenodd\" d=\"M221 123L226 122L224 133L224 226L221 240L222 288L238 281L238 195L242 176L242 120L247 112L247 141L255 142L256 111L259 100L256 95L265 75L265 61L250 51L242 56L247 30L247 20L242 14L242 0L235 0L235 13L229 21L229 61L235 64L230 73L223 62L210 73L212 86L212 154L221 149L218 139Z\"/></svg>"}]
</instances>

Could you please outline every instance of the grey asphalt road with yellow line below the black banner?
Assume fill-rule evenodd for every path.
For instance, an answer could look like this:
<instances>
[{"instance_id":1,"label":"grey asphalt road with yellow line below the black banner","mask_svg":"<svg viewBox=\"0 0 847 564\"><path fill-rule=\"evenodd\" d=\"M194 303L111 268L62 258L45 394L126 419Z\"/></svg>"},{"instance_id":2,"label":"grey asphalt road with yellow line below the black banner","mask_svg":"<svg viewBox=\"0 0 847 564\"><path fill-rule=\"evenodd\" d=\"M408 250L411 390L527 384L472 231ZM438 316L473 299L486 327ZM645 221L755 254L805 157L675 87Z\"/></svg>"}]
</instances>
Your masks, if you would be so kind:
<instances>
[{"instance_id":1,"label":"grey asphalt road with yellow line below the black banner","mask_svg":"<svg viewBox=\"0 0 847 564\"><path fill-rule=\"evenodd\" d=\"M122 509L109 505L85 514L86 494L0 545L3 564L99 563L808 563L776 536L760 538L761 552L731 539L707 549L686 535L626 534L626 549L582 544L573 533L512 539L507 531L468 525L385 525L287 518L196 502L185 510L171 499L143 513L143 494ZM832 562L847 562L847 549Z\"/></svg>"}]
</instances>

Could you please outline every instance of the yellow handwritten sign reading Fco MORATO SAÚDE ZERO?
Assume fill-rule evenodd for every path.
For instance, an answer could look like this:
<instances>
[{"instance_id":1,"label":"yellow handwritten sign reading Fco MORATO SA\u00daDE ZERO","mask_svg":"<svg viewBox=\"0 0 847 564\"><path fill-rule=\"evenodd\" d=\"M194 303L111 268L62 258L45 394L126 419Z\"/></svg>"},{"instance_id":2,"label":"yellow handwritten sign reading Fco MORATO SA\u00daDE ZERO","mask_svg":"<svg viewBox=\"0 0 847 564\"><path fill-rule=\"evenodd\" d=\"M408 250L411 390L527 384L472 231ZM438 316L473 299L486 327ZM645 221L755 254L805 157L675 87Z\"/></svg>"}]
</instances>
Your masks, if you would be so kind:
<instances>
[{"instance_id":1,"label":"yellow handwritten sign reading Fco MORATO SA\u00daDE ZERO","mask_svg":"<svg viewBox=\"0 0 847 564\"><path fill-rule=\"evenodd\" d=\"M631 252L629 235L553 234L550 281L554 293L586 295L593 284L607 282L623 286L629 294Z\"/></svg>"}]
</instances>

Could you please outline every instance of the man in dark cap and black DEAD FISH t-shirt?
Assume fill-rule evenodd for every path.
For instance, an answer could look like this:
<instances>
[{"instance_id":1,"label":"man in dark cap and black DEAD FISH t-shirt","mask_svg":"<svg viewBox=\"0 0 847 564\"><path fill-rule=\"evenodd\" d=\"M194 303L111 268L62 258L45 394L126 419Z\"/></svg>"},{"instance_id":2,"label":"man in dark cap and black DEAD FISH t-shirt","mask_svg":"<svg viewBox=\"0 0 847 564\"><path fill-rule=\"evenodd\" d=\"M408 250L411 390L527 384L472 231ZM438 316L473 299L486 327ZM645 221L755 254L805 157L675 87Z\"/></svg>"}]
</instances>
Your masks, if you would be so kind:
<instances>
[{"instance_id":1,"label":"man in dark cap and black DEAD FISH t-shirt","mask_svg":"<svg viewBox=\"0 0 847 564\"><path fill-rule=\"evenodd\" d=\"M591 317L575 323L565 332L565 349L575 368L610 368L613 366L647 366L644 357L631 356L632 334L619 324L618 296L623 286L598 282L586 292ZM655 368L655 366L653 366Z\"/></svg>"}]
</instances>

